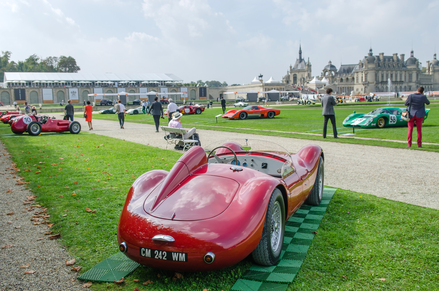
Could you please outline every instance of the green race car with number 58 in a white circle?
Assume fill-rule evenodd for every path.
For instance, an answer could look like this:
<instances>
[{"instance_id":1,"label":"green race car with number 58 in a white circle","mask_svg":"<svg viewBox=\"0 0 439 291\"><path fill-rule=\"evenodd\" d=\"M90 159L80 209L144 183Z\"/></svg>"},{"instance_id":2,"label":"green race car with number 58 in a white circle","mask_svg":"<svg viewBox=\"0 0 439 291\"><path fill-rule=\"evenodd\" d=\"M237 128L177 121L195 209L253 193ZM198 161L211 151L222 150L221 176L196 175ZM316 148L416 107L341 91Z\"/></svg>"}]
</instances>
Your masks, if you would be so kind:
<instances>
[{"instance_id":1,"label":"green race car with number 58 in a white circle","mask_svg":"<svg viewBox=\"0 0 439 291\"><path fill-rule=\"evenodd\" d=\"M407 121L401 119L401 113L405 110L406 108L399 107L380 107L369 113L356 113L354 111L343 120L343 126L360 128L407 126ZM428 111L430 109L425 109L427 115L424 116L424 120L428 116Z\"/></svg>"}]
</instances>

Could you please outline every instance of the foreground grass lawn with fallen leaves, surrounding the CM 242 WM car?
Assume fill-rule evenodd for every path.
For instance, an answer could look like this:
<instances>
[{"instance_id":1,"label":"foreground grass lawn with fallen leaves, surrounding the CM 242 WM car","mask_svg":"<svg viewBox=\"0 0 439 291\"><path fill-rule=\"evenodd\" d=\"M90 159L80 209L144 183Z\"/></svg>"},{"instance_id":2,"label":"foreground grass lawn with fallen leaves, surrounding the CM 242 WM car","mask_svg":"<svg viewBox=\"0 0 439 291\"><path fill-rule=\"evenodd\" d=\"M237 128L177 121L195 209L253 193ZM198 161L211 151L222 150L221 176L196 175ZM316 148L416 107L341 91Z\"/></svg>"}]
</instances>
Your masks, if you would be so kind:
<instances>
[{"instance_id":1,"label":"foreground grass lawn with fallen leaves, surrounding the CM 242 WM car","mask_svg":"<svg viewBox=\"0 0 439 291\"><path fill-rule=\"evenodd\" d=\"M169 170L180 156L93 134L1 140L36 202L49 209L51 230L61 233L59 243L83 266L81 273L118 251L117 223L134 179L151 169ZM438 290L438 229L437 210L339 189L289 290ZM227 291L251 264L246 258L216 272L183 273L175 282L173 272L141 266L125 284L94 283L90 289ZM141 284L147 280L154 284Z\"/></svg>"}]
</instances>

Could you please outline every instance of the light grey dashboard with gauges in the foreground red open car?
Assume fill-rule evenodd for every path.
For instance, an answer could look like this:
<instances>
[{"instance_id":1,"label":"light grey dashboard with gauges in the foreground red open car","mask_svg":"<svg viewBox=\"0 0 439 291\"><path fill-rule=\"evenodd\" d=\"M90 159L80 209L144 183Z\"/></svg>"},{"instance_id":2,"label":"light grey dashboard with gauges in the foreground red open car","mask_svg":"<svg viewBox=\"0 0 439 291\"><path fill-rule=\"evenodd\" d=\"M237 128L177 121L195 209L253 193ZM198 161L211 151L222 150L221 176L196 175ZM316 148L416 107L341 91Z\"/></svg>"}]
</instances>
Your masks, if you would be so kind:
<instances>
[{"instance_id":1,"label":"light grey dashboard with gauges in the foreground red open car","mask_svg":"<svg viewBox=\"0 0 439 291\"><path fill-rule=\"evenodd\" d=\"M230 159L233 158L234 155L224 155L219 156L221 159ZM281 169L284 162L280 160L271 159L266 156L253 156L253 155L237 155L238 157L238 166L250 168L259 172L263 172L264 174L271 176L280 176ZM215 157L211 157L209 159L209 163L218 163ZM235 160L228 162L227 164L236 165Z\"/></svg>"}]
</instances>

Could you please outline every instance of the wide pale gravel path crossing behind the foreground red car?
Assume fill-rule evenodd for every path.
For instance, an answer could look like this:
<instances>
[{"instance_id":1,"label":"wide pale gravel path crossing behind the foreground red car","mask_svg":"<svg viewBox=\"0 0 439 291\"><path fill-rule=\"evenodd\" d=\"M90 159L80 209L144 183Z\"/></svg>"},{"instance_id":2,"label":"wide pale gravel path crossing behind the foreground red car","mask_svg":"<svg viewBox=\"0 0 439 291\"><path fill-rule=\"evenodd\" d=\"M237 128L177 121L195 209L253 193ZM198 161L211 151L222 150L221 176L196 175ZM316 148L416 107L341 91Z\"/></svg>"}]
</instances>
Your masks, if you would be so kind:
<instances>
[{"instance_id":1,"label":"wide pale gravel path crossing behind the foreground red car","mask_svg":"<svg viewBox=\"0 0 439 291\"><path fill-rule=\"evenodd\" d=\"M118 121L93 120L94 130L88 131L83 118L76 120L83 131L166 147L164 132L154 132L154 125L126 122L126 129L120 129ZM330 142L331 138L321 142L226 131L197 132L202 146L227 138L251 138L276 142L294 153L314 143L325 154L325 185L439 210L439 153Z\"/></svg>"}]
</instances>

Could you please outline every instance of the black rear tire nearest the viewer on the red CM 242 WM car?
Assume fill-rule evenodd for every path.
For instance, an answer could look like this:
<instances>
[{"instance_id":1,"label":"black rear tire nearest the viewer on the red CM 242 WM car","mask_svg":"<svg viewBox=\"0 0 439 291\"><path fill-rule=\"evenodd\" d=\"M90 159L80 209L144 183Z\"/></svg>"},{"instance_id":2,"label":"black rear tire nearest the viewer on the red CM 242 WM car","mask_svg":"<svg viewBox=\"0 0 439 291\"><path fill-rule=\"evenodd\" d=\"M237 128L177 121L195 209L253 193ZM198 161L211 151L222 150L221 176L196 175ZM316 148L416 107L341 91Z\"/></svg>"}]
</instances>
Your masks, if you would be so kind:
<instances>
[{"instance_id":1,"label":"black rear tire nearest the viewer on the red CM 242 WM car","mask_svg":"<svg viewBox=\"0 0 439 291\"><path fill-rule=\"evenodd\" d=\"M277 242L275 246L272 246L271 236L273 233L272 217L276 216L276 210L280 210L279 218L280 225L277 225L276 229L280 229ZM252 251L253 260L256 264L261 266L274 266L279 261L282 251L282 244L284 243L285 233L285 205L284 198L282 197L281 190L274 188L271 193L270 201L268 202L267 211L265 214L265 222L262 230L261 240L258 246ZM279 238L280 235L280 238ZM274 248L274 250L273 250Z\"/></svg>"}]
</instances>

